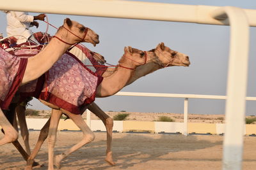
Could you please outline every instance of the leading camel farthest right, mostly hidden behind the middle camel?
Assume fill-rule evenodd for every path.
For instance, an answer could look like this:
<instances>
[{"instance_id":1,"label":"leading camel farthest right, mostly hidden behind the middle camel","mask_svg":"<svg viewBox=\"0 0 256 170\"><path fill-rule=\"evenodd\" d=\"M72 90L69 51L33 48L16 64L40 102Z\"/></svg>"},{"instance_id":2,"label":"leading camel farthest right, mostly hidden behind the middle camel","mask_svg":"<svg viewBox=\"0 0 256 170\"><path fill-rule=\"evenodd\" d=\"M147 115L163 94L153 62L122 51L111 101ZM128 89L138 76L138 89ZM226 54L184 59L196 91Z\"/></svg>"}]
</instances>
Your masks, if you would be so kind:
<instances>
[{"instance_id":1,"label":"leading camel farthest right, mostly hidden behind the middle camel","mask_svg":"<svg viewBox=\"0 0 256 170\"><path fill-rule=\"evenodd\" d=\"M160 43L157 45L157 48L152 50L152 52L156 53L156 58L152 60L151 62L148 62L145 65L136 67L134 74L132 74L131 78L129 81L127 81L126 85L131 84L133 81L137 80L141 76L145 76L148 73L152 73L153 71L156 71L157 69L161 69L164 67L170 67L170 66L189 66L189 57L187 55L184 55L183 53L175 52L173 50L170 50L167 46L164 46L164 43ZM99 56L99 55L98 55ZM102 56L100 56L102 57ZM102 60L104 60L104 57L102 57ZM115 71L116 68L108 68L102 76L108 77L110 76L113 71ZM113 119L110 118L104 111L102 111L97 104L92 103L88 107L92 113L97 115L102 122L104 122L104 125L106 126L107 130L107 150L106 150L106 161L111 164L115 165L115 162L113 162L112 159L112 152L111 152L111 140L112 140L112 129L113 129ZM62 114L61 111L58 110L52 110L52 115L53 112L55 113L54 115L59 114L58 117ZM58 118L56 118L58 119ZM48 122L44 125L40 132L40 137L38 139L38 143L35 146L35 149L33 150L33 153L29 157L29 161L27 164L28 169L31 168L31 162L33 162L33 159L35 159L36 153L40 149L40 146L42 146L42 143L44 140L47 138L47 134L49 131L49 124L50 124L51 118L48 120ZM58 125L57 125L58 126ZM56 128L56 127L55 127ZM55 159L55 164L56 166L60 167L60 162L64 157L67 157L67 154L74 152L74 150L70 149L69 152L65 152L61 155L56 156Z\"/></svg>"}]
</instances>

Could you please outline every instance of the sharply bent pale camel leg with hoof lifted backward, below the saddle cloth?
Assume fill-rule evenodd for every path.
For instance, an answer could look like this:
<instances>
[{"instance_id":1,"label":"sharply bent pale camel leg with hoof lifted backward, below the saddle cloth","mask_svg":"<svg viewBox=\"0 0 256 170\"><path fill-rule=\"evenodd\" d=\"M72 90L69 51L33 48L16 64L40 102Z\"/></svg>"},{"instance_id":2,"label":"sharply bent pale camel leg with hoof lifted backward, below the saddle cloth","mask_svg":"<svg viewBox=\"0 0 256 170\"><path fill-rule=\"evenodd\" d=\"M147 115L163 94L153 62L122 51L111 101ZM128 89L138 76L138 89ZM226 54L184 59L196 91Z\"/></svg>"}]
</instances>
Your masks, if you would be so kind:
<instances>
[{"instance_id":1,"label":"sharply bent pale camel leg with hoof lifted backward, below the saddle cloth","mask_svg":"<svg viewBox=\"0 0 256 170\"><path fill-rule=\"evenodd\" d=\"M81 129L81 131L83 132L83 139L81 139L81 141L79 141L79 143L72 146L72 148L68 149L66 152L63 152L60 155L56 155L55 165L58 168L60 168L61 160L63 160L65 157L67 157L70 153L75 152L76 150L78 150L82 146L86 145L87 143L92 142L93 139L95 138L95 135L93 134L91 129L88 127L88 125L84 122L81 115L66 113L65 111L63 111L63 113L67 114L68 117L70 117L73 120L73 122L77 125L77 127L79 127L79 129ZM51 130L52 129L50 127L50 131Z\"/></svg>"}]
</instances>

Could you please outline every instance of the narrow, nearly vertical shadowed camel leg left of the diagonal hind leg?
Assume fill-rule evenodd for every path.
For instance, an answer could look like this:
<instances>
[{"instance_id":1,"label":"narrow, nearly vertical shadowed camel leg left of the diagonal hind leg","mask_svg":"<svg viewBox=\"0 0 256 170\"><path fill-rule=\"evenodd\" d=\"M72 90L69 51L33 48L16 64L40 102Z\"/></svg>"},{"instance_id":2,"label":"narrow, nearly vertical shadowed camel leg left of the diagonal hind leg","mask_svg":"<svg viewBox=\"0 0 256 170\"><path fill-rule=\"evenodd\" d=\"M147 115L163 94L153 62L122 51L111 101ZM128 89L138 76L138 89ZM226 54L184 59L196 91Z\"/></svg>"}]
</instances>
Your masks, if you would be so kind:
<instances>
[{"instance_id":1,"label":"narrow, nearly vertical shadowed camel leg left of the diagonal hind leg","mask_svg":"<svg viewBox=\"0 0 256 170\"><path fill-rule=\"evenodd\" d=\"M16 113L20 124L20 134L24 141L24 145L26 148L26 152L28 155L31 154L30 147L29 147L29 132L28 132L28 125L26 123L26 115L25 115L26 108L24 106L16 106Z\"/></svg>"}]
</instances>

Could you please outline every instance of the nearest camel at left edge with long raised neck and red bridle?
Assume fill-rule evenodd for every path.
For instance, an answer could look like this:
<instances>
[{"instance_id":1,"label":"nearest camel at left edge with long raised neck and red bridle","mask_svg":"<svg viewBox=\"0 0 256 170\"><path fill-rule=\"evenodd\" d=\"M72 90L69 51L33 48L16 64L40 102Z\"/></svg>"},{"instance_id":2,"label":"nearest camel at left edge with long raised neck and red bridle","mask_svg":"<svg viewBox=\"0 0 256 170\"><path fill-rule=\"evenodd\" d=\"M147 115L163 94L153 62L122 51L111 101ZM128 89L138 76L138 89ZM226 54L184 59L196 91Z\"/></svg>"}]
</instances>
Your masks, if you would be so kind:
<instances>
[{"instance_id":1,"label":"nearest camel at left edge with long raised neck and red bridle","mask_svg":"<svg viewBox=\"0 0 256 170\"><path fill-rule=\"evenodd\" d=\"M29 81L40 77L49 70L58 59L60 59L70 46L79 42L88 42L95 46L99 43L99 36L92 31L92 29L66 18L49 45L34 57L20 59L19 57L10 55L10 53L7 53L2 48L0 49L1 66L6 66L1 67L0 74L1 76L6 76L7 80L5 82L3 79L0 86L1 97L4 97L4 99L1 98L0 100L0 125L4 131L4 137L0 139L0 146L6 143L17 144L18 133L8 121L6 115L4 115L3 110L8 109L13 96L20 85L25 85ZM12 79L12 82L9 82L11 73L14 74L15 78ZM6 84L4 83L15 83L15 86L10 86L9 89L6 89ZM4 94L5 96L3 96Z\"/></svg>"}]
</instances>

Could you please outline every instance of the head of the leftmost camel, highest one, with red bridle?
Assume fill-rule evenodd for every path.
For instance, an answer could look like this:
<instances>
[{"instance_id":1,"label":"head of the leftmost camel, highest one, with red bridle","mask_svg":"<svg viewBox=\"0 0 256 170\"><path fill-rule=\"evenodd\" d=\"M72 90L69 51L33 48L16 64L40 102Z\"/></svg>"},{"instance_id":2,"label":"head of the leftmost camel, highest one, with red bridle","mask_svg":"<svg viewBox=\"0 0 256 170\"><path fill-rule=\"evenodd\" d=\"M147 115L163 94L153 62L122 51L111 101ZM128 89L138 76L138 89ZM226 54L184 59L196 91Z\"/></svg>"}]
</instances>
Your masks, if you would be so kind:
<instances>
[{"instance_id":1,"label":"head of the leftmost camel, highest one, with red bridle","mask_svg":"<svg viewBox=\"0 0 256 170\"><path fill-rule=\"evenodd\" d=\"M98 34L92 31L92 29L85 27L74 20L70 20L70 18L64 20L64 24L60 27L57 34L61 34L61 38L63 40L66 39L70 44L86 42L96 46L96 44L99 43Z\"/></svg>"}]
</instances>

